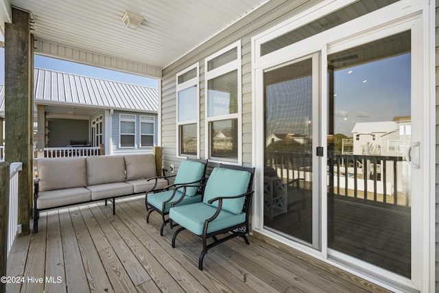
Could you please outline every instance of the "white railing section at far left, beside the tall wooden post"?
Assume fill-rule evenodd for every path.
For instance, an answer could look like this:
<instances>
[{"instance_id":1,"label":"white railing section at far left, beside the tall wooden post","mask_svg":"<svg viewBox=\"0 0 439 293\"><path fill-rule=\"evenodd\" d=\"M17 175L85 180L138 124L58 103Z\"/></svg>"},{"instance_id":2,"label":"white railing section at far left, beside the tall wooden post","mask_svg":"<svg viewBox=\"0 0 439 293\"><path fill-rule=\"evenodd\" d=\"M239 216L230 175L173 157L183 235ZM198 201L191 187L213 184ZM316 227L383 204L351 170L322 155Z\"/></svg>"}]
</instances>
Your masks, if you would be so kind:
<instances>
[{"instance_id":1,"label":"white railing section at far left, beside the tall wooden post","mask_svg":"<svg viewBox=\"0 0 439 293\"><path fill-rule=\"evenodd\" d=\"M19 233L19 172L22 166L22 163L12 163L10 165L8 255L15 237Z\"/></svg>"}]
</instances>

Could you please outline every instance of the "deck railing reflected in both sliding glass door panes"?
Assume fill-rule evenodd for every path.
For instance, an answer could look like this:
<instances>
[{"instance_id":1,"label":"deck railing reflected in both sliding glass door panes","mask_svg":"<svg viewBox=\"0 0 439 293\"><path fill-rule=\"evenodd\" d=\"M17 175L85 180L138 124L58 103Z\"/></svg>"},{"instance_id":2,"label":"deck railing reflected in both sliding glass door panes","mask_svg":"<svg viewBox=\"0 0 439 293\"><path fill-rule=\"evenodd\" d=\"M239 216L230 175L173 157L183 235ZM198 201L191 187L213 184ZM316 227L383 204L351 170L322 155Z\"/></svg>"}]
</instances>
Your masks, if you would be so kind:
<instances>
[{"instance_id":1,"label":"deck railing reflected in both sliding glass door panes","mask_svg":"<svg viewBox=\"0 0 439 293\"><path fill-rule=\"evenodd\" d=\"M311 154L266 152L266 165L276 169L283 182L300 178L302 188L311 189ZM410 191L401 156L329 154L327 184L329 194L390 209L410 207ZM408 175L410 176L410 175Z\"/></svg>"}]
</instances>

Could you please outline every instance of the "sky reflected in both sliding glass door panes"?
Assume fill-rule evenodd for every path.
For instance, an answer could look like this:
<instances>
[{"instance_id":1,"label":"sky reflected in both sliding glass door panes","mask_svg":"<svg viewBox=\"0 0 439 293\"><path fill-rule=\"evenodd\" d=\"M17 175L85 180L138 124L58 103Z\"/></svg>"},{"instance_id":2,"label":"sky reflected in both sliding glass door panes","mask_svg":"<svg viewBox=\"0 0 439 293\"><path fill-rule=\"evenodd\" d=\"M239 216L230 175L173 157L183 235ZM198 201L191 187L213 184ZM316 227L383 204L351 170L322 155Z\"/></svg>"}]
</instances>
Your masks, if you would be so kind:
<instances>
[{"instance_id":1,"label":"sky reflected in both sliding glass door panes","mask_svg":"<svg viewBox=\"0 0 439 293\"><path fill-rule=\"evenodd\" d=\"M410 117L410 67L410 54L402 54L335 71L334 133L352 137L357 123ZM309 134L316 121L311 119L311 75L280 80L266 90L266 135Z\"/></svg>"}]
</instances>

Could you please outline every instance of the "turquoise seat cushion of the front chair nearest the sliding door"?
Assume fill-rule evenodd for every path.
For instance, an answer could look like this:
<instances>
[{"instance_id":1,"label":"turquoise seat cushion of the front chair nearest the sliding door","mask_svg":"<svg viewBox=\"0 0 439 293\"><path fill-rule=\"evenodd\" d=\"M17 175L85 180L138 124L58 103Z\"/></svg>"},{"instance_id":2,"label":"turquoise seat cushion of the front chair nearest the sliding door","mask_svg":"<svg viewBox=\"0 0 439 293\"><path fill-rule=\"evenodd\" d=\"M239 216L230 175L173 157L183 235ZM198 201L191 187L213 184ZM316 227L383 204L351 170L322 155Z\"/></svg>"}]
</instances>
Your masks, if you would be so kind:
<instances>
[{"instance_id":1,"label":"turquoise seat cushion of the front chair nearest the sliding door","mask_svg":"<svg viewBox=\"0 0 439 293\"><path fill-rule=\"evenodd\" d=\"M204 221L211 218L216 210L216 207L203 202L178 205L178 207L171 208L169 211L169 218L187 228L187 230L195 235L202 235ZM209 223L207 233L219 231L223 228L235 226L244 222L246 222L246 213L235 214L222 209L218 217Z\"/></svg>"}]
</instances>

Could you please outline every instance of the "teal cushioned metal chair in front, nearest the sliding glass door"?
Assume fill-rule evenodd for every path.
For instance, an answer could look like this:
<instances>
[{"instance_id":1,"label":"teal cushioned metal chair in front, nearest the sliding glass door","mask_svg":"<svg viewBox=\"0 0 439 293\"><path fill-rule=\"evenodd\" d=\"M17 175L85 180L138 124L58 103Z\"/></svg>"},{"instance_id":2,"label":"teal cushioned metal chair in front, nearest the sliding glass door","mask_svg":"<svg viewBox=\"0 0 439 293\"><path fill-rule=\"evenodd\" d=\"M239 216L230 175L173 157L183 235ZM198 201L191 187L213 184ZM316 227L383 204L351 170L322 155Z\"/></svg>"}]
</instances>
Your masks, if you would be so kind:
<instances>
[{"instance_id":1,"label":"teal cushioned metal chair in front, nearest the sliding glass door","mask_svg":"<svg viewBox=\"0 0 439 293\"><path fill-rule=\"evenodd\" d=\"M203 250L198 259L198 268L202 270L207 250L228 239L241 236L246 244L248 218L252 201L252 181L254 168L221 164L213 169L203 189L202 202L171 205L169 219L181 227L172 237L175 247L178 233L187 229L202 237ZM171 224L172 225L172 224ZM217 235L226 236L217 238ZM213 242L207 244L207 239Z\"/></svg>"}]
</instances>

